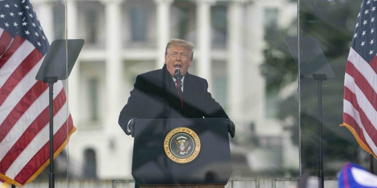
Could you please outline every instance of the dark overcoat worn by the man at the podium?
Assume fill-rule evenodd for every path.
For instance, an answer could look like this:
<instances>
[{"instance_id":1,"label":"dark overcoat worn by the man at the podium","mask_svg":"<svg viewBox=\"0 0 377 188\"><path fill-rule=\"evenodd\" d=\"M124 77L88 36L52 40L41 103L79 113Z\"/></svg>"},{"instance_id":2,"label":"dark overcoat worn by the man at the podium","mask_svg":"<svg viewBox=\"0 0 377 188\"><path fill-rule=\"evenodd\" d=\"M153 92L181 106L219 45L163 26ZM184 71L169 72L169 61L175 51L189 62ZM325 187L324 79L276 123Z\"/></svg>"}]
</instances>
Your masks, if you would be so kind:
<instances>
[{"instance_id":1,"label":"dark overcoat worn by the man at the podium","mask_svg":"<svg viewBox=\"0 0 377 188\"><path fill-rule=\"evenodd\" d=\"M183 109L175 83L166 69L136 77L134 89L119 115L119 125L126 132L132 118L227 118L228 115L207 91L207 80L188 72L183 82Z\"/></svg>"}]
</instances>

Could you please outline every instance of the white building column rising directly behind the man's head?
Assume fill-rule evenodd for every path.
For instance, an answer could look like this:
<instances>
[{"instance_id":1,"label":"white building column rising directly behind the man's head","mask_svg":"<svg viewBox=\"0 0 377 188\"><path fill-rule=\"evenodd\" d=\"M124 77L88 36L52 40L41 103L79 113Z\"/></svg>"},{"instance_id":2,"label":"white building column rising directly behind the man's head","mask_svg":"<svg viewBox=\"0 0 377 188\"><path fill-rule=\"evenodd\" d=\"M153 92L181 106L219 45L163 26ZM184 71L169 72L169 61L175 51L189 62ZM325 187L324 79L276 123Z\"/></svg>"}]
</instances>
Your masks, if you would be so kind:
<instances>
[{"instance_id":1,"label":"white building column rising directly behind the man's head","mask_svg":"<svg viewBox=\"0 0 377 188\"><path fill-rule=\"evenodd\" d=\"M167 42L170 40L170 5L172 0L154 0L157 17L157 56L156 69L164 64L164 55Z\"/></svg>"}]
</instances>

